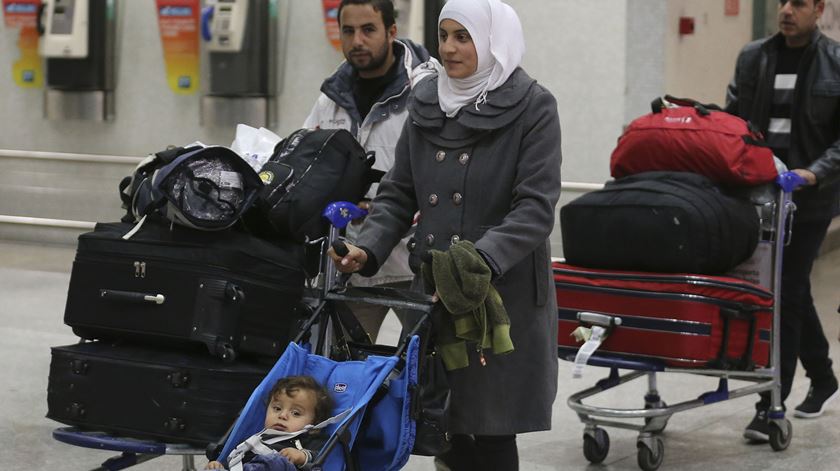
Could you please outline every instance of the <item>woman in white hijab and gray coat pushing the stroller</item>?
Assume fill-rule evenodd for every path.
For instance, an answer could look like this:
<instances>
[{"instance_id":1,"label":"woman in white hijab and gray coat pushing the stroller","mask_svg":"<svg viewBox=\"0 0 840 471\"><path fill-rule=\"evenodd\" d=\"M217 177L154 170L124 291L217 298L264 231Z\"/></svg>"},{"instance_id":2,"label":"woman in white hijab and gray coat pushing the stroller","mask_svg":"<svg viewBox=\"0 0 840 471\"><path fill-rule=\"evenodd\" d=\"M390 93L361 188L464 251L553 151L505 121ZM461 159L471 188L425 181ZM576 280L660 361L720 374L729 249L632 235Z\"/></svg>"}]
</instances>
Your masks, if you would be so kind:
<instances>
[{"instance_id":1,"label":"woman in white hijab and gray coat pushing the stroller","mask_svg":"<svg viewBox=\"0 0 840 471\"><path fill-rule=\"evenodd\" d=\"M371 275L420 219L409 264L470 241L510 318L513 351L468 349L447 372L452 471L518 470L516 434L548 430L557 392L557 307L548 237L560 195L560 125L551 93L519 67L514 10L499 0L450 0L438 19L443 66L415 86L396 162L357 245L333 259ZM415 289L424 289L418 277ZM436 327L438 327L436 325Z\"/></svg>"}]
</instances>

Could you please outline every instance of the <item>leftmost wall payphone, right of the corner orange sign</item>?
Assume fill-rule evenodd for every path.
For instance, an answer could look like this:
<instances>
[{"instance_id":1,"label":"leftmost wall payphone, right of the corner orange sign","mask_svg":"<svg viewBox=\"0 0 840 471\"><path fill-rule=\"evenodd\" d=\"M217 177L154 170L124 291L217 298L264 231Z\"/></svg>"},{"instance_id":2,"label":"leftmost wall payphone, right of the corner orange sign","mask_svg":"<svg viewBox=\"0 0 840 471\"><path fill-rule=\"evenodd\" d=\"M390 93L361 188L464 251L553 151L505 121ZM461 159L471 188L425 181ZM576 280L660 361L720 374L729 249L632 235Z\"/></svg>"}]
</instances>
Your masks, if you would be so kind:
<instances>
[{"instance_id":1,"label":"leftmost wall payphone, right of the corner orange sign","mask_svg":"<svg viewBox=\"0 0 840 471\"><path fill-rule=\"evenodd\" d=\"M44 0L39 54L46 59L44 115L114 117L114 0Z\"/></svg>"}]
</instances>

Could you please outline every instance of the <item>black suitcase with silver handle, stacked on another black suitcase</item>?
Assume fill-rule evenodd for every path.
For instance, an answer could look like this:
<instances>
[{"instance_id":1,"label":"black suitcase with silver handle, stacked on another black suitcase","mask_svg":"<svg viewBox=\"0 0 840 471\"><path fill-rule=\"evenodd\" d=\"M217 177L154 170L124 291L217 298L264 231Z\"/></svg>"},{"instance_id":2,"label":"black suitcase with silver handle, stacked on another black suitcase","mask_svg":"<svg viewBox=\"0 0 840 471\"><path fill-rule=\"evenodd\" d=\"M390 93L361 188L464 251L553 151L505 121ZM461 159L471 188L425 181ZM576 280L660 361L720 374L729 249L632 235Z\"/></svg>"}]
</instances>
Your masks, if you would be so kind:
<instances>
[{"instance_id":1,"label":"black suitcase with silver handle, stacked on another black suitcase","mask_svg":"<svg viewBox=\"0 0 840 471\"><path fill-rule=\"evenodd\" d=\"M303 315L302 246L148 219L79 236L64 322L85 339L200 342L221 358L279 356Z\"/></svg>"}]
</instances>

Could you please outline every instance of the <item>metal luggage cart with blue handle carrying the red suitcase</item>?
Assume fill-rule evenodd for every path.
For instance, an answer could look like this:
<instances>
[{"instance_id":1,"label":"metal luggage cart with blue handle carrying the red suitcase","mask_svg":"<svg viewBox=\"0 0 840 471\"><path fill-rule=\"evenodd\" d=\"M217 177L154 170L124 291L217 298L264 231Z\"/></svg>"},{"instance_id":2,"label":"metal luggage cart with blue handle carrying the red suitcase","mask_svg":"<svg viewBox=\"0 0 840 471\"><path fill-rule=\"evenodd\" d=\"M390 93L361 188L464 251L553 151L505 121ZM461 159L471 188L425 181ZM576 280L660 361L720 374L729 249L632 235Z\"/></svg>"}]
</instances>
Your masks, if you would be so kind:
<instances>
[{"instance_id":1,"label":"metal luggage cart with blue handle carrying the red suitcase","mask_svg":"<svg viewBox=\"0 0 840 471\"><path fill-rule=\"evenodd\" d=\"M769 187L769 185L768 185ZM762 222L762 243L769 243L771 247L770 284L772 287L772 328L770 331L769 359L766 367L746 369L714 369L674 367L668 362L652 358L627 355L613 355L598 353L596 350L586 362L587 365L609 368L609 375L598 381L593 387L571 395L568 406L574 410L584 424L583 454L588 461L597 464L602 462L609 453L610 438L604 427L617 427L639 432L636 446L637 463L645 471L653 471L660 467L665 454L665 443L661 437L670 417L676 413L707 406L717 402L737 397L770 391L771 407L769 418L769 443L775 451L786 449L791 442L793 429L785 418L781 400L780 382L780 344L779 344L779 316L780 316L780 288L782 252L785 242L790 237L788 231L790 219L793 217L795 205L791 200L791 188L778 190L772 187L769 196L765 194L763 201L753 200L758 207ZM578 312L577 319L581 325L600 326L604 329L620 328L621 314ZM750 342L752 344L752 342ZM748 346L752 349L753 346ZM562 359L574 361L576 351L558 347ZM630 370L619 373L620 369ZM677 404L666 404L657 389L657 373L690 373L709 377L717 377L718 387L715 391L701 394L693 400ZM584 400L601 392L613 389L638 378L647 379L647 393L644 396L644 407L635 409L619 409L599 407L585 404ZM729 380L746 381L751 384L730 389ZM638 424L627 419L642 419Z\"/></svg>"}]
</instances>

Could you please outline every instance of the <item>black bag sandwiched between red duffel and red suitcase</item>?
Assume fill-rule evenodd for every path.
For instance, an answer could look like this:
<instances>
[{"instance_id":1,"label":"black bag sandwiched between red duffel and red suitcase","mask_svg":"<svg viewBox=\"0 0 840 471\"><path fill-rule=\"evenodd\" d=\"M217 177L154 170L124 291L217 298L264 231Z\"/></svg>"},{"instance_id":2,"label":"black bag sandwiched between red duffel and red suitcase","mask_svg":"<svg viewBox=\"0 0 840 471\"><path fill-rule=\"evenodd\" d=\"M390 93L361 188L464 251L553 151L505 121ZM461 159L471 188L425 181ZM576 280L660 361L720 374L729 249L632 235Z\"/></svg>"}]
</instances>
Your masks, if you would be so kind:
<instances>
[{"instance_id":1,"label":"black bag sandwiched between red duffel and red suitcase","mask_svg":"<svg viewBox=\"0 0 840 471\"><path fill-rule=\"evenodd\" d=\"M759 220L702 175L644 172L563 206L560 229L572 265L715 275L752 255Z\"/></svg>"}]
</instances>

